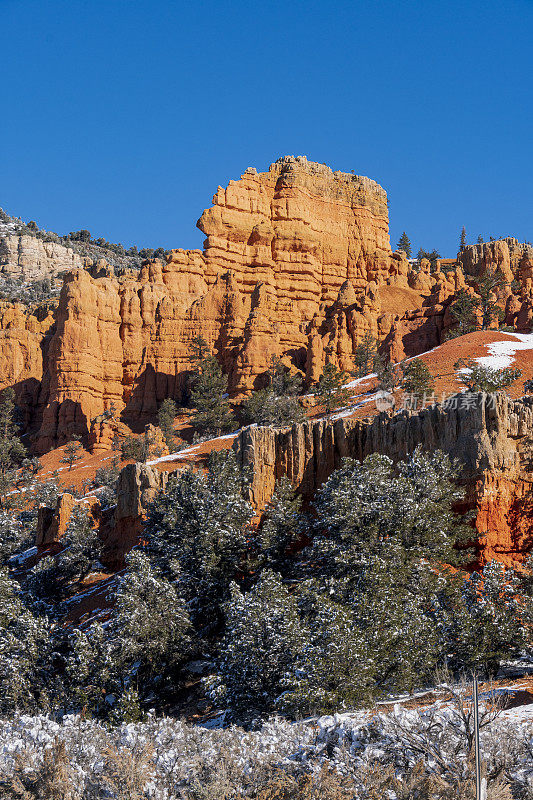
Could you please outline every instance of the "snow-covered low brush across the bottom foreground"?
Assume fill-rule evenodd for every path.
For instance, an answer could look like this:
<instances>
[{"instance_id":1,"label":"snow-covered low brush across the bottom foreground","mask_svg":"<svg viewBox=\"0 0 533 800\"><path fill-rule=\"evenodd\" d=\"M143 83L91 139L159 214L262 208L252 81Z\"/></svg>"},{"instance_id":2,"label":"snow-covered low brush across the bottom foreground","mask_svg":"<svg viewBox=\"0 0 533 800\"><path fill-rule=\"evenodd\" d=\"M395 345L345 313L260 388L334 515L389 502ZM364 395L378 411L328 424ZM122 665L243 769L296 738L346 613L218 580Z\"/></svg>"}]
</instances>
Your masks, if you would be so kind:
<instances>
[{"instance_id":1,"label":"snow-covered low brush across the bottom foreground","mask_svg":"<svg viewBox=\"0 0 533 800\"><path fill-rule=\"evenodd\" d=\"M522 790L533 786L532 711L532 706L523 706L504 712L481 731L484 759L494 766L503 753L506 774ZM357 770L368 775L363 780L371 780L376 767L393 767L403 779L422 759L428 771L449 769L452 775L469 776L469 747L457 722L457 712L442 702L422 709L396 705L385 713L363 709L295 723L272 718L253 731L236 726L215 730L151 715L144 722L113 729L79 716L58 722L45 715L15 714L0 720L0 775L12 773L17 757L26 769L42 764L46 748L64 742L76 788L102 786L106 759L114 748L124 755L124 765L131 763L132 753L141 758L146 753L150 768L144 771L145 796L152 800L181 797L199 775L217 771L234 776L237 790L239 776L246 780L265 767L302 774L328 764L341 774L354 775L357 782ZM111 790L101 796L112 800L117 794Z\"/></svg>"}]
</instances>

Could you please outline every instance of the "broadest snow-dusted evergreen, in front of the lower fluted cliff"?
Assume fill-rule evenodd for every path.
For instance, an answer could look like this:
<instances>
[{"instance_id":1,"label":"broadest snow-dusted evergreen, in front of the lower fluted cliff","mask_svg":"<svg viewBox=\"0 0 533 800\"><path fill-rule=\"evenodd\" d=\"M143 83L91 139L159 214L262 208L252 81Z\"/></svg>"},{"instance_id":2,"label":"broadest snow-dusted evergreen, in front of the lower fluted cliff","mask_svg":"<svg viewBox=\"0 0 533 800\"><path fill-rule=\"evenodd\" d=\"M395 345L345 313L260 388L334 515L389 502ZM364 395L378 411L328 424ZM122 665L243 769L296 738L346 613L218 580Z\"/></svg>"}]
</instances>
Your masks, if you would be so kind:
<instances>
[{"instance_id":1,"label":"broadest snow-dusted evergreen, in front of the lower fluted cliff","mask_svg":"<svg viewBox=\"0 0 533 800\"><path fill-rule=\"evenodd\" d=\"M433 565L457 564L472 539L453 512L456 479L442 452L417 449L397 468L346 459L318 492L309 575L351 608L378 687L420 684L452 647L446 571Z\"/></svg>"}]
</instances>

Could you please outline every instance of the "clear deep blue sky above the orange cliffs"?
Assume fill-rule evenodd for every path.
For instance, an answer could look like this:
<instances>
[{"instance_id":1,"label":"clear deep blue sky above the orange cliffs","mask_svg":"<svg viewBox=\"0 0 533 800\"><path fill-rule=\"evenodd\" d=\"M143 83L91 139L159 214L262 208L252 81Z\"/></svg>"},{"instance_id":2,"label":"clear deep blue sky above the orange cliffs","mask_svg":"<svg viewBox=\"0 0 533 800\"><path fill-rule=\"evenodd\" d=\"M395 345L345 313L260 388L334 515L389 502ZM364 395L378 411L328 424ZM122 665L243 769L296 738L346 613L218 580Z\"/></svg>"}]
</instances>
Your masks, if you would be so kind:
<instances>
[{"instance_id":1,"label":"clear deep blue sky above the orange cliffs","mask_svg":"<svg viewBox=\"0 0 533 800\"><path fill-rule=\"evenodd\" d=\"M303 154L384 186L393 245L533 239L532 34L532 0L0 0L0 206L201 247L219 184Z\"/></svg>"}]
</instances>

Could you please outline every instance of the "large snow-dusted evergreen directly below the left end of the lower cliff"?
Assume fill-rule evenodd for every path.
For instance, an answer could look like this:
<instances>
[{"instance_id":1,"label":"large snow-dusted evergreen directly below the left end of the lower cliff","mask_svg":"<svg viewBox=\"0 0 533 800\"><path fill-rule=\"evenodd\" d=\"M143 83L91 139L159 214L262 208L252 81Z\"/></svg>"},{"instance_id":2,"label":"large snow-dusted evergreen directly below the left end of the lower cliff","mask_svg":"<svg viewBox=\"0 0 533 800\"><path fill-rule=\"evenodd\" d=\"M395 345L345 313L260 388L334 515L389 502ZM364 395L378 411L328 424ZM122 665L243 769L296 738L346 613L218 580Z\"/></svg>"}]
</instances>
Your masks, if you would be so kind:
<instances>
[{"instance_id":1,"label":"large snow-dusted evergreen directly below the left end of the lower cliff","mask_svg":"<svg viewBox=\"0 0 533 800\"><path fill-rule=\"evenodd\" d=\"M232 451L213 453L206 475L181 470L154 500L145 526L148 555L164 577L178 582L195 621L217 622L243 564L252 515Z\"/></svg>"}]
</instances>

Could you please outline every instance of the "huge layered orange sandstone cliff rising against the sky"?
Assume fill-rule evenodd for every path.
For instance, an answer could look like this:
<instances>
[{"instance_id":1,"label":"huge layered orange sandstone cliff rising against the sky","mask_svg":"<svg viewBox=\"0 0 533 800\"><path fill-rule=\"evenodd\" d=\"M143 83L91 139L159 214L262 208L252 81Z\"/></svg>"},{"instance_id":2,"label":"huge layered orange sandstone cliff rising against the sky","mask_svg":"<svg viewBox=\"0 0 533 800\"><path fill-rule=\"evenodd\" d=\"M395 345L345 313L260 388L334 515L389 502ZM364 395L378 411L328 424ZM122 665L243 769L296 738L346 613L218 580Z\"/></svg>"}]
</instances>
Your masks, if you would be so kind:
<instances>
[{"instance_id":1,"label":"huge layered orange sandstone cliff rising against the sky","mask_svg":"<svg viewBox=\"0 0 533 800\"><path fill-rule=\"evenodd\" d=\"M423 260L413 269L391 251L387 196L377 183L305 157L281 158L263 173L249 168L219 187L198 227L203 251L172 250L120 278L70 269L53 326L29 313L23 322L17 312L17 327L5 328L0 363L18 366L6 369L1 386L16 384L36 452L87 435L112 406L141 430L165 397L181 403L198 335L239 400L264 385L272 356L310 384L326 362L352 370L368 332L394 361L430 350L454 324L449 305L466 286L461 268L431 271ZM53 249L49 257L55 266L46 269L63 268L63 256ZM470 274L496 262L515 270L522 294L507 287L499 300L506 321L528 329L529 250L502 240L467 248L462 258ZM43 259L41 250L32 256L36 270Z\"/></svg>"}]
</instances>

